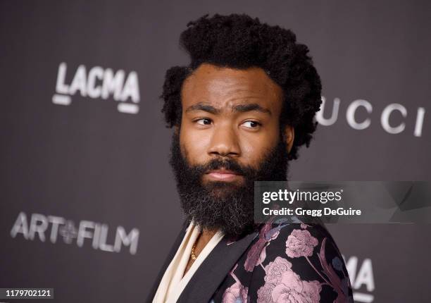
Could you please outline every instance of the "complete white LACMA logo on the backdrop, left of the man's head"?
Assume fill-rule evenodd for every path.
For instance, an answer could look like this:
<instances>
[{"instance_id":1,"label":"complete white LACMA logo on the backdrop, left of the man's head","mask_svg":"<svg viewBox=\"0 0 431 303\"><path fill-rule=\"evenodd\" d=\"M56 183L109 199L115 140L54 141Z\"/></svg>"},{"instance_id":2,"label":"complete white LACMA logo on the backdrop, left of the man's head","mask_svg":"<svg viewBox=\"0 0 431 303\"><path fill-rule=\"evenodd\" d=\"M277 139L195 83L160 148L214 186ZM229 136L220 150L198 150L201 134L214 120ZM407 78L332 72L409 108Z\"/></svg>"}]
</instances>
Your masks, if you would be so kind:
<instances>
[{"instance_id":1,"label":"complete white LACMA logo on the backdrop, left of the man's head","mask_svg":"<svg viewBox=\"0 0 431 303\"><path fill-rule=\"evenodd\" d=\"M65 80L68 66L64 62L60 63L53 103L70 105L72 97L79 92L82 97L92 99L112 98L118 101L117 109L121 113L139 112L139 82L135 71L126 75L124 70L114 73L111 68L100 66L90 68L88 73L87 70L84 65L78 66L72 82L67 84Z\"/></svg>"}]
</instances>

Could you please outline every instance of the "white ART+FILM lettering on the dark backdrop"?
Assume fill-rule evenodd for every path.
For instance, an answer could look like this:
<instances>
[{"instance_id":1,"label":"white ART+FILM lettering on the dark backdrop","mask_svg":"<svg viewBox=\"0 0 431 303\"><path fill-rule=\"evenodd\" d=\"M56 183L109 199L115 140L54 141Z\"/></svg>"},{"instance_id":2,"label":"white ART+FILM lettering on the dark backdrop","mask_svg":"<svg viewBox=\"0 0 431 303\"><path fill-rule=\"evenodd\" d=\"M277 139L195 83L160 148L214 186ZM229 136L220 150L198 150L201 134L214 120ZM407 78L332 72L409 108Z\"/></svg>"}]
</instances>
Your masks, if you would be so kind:
<instances>
[{"instance_id":1,"label":"white ART+FILM lettering on the dark backdrop","mask_svg":"<svg viewBox=\"0 0 431 303\"><path fill-rule=\"evenodd\" d=\"M30 219L30 220L29 220ZM123 246L129 247L130 254L136 254L139 240L139 230L132 228L126 233L123 226L115 230L115 240L107 243L109 227L107 224L82 220L77 225L71 220L59 216L44 216L31 214L29 218L21 211L11 229L11 237L22 234L25 240L35 240L56 243L58 235L63 237L66 244L75 244L78 247L90 245L93 249L104 252L120 252Z\"/></svg>"}]
</instances>

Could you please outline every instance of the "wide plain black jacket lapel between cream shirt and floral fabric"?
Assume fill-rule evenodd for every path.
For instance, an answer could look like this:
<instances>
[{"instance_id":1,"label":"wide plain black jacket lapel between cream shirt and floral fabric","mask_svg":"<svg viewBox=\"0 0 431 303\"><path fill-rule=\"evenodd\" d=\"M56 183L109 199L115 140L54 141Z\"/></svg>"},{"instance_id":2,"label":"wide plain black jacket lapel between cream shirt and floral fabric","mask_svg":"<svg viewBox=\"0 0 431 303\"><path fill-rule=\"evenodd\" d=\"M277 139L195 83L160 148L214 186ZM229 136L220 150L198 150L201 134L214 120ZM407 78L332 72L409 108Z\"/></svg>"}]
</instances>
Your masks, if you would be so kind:
<instances>
[{"instance_id":1,"label":"wide plain black jacket lapel between cream shirt and floral fabric","mask_svg":"<svg viewBox=\"0 0 431 303\"><path fill-rule=\"evenodd\" d=\"M256 235L256 232L251 233L230 245L227 245L229 240L223 237L189 280L177 303L209 302Z\"/></svg>"}]
</instances>

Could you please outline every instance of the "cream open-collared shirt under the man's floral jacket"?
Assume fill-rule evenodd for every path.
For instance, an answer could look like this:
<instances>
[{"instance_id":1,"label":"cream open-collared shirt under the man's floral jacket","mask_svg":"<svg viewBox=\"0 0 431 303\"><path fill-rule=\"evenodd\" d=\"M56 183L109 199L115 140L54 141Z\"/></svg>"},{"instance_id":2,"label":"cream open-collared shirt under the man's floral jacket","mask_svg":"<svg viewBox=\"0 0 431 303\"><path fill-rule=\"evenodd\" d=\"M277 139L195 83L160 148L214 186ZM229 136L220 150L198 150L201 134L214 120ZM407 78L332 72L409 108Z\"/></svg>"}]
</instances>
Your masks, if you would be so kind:
<instances>
[{"instance_id":1,"label":"cream open-collared shirt under the man's floral jacket","mask_svg":"<svg viewBox=\"0 0 431 303\"><path fill-rule=\"evenodd\" d=\"M187 273L183 276L187 263L189 263L190 254L192 254L192 247L196 239L199 237L199 228L192 221L187 228L184 239L177 253L173 257L168 268L166 268L163 278L158 285L156 295L154 296L153 303L174 303L180 297L182 290L186 287L189 280L192 278L196 270L206 259L208 254L211 253L213 248L223 239L223 233L218 230L217 233L211 237L211 240L202 249L199 256L194 260L192 266Z\"/></svg>"}]
</instances>

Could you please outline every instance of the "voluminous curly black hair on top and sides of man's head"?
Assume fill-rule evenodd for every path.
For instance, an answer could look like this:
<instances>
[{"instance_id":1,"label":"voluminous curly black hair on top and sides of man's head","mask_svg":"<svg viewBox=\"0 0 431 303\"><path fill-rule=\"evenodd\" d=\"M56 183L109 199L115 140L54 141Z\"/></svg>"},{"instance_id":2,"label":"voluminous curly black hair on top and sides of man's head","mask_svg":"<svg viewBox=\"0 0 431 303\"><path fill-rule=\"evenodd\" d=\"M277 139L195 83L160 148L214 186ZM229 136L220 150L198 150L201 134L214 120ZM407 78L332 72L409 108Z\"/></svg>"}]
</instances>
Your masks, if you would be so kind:
<instances>
[{"instance_id":1,"label":"voluminous curly black hair on top and sides of man's head","mask_svg":"<svg viewBox=\"0 0 431 303\"><path fill-rule=\"evenodd\" d=\"M314 116L322 103L322 85L308 56L308 47L296 43L291 30L261 23L258 18L244 14L205 15L187 24L180 36L180 46L191 62L189 66L174 66L166 72L161 98L169 128L180 126L182 83L201 63L237 69L258 67L282 87L280 125L292 125L295 130L289 159L298 158L301 145L309 146L317 126Z\"/></svg>"}]
</instances>

